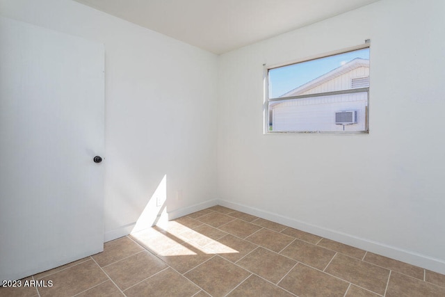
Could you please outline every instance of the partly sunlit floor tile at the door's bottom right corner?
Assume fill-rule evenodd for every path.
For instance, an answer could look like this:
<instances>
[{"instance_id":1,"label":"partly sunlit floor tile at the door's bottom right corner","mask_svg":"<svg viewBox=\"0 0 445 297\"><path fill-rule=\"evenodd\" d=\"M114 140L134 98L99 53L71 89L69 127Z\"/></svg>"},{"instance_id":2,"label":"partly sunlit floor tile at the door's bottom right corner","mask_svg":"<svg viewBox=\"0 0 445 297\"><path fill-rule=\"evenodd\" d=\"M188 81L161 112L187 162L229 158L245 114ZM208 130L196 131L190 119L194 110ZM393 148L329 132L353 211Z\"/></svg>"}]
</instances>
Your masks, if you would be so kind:
<instances>
[{"instance_id":1,"label":"partly sunlit floor tile at the door's bottom right corner","mask_svg":"<svg viewBox=\"0 0 445 297\"><path fill-rule=\"evenodd\" d=\"M121 237L120 239L115 239L113 241L108 241L104 243L104 251L99 252L99 254L92 255L97 264L101 267L124 259L124 257L129 257L144 250L138 243L135 243L127 236Z\"/></svg>"}]
</instances>

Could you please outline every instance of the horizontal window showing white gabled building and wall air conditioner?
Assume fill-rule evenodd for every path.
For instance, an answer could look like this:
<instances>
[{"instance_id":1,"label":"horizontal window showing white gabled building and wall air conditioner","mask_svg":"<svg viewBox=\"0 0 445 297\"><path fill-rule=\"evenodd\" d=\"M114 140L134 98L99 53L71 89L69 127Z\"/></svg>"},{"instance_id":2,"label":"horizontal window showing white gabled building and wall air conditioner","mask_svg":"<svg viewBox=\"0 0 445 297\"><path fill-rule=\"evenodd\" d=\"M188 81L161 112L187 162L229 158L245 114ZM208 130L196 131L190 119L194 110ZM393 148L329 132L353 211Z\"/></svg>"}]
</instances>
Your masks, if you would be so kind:
<instances>
[{"instance_id":1,"label":"horizontal window showing white gabled building and wall air conditioner","mask_svg":"<svg viewBox=\"0 0 445 297\"><path fill-rule=\"evenodd\" d=\"M266 70L266 133L368 132L368 43Z\"/></svg>"}]
</instances>

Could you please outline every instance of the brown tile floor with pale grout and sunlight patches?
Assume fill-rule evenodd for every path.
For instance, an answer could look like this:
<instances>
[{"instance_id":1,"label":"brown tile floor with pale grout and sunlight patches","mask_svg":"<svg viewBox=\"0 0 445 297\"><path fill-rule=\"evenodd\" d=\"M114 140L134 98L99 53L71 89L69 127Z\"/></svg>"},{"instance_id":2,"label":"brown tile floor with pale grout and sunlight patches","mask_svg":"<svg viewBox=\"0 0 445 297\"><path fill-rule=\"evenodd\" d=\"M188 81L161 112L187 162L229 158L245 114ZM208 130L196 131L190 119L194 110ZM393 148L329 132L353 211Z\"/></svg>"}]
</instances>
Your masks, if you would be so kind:
<instances>
[{"instance_id":1,"label":"brown tile floor with pale grout and sunlight patches","mask_svg":"<svg viewBox=\"0 0 445 297\"><path fill-rule=\"evenodd\" d=\"M445 275L215 206L0 296L445 296Z\"/></svg>"}]
</instances>

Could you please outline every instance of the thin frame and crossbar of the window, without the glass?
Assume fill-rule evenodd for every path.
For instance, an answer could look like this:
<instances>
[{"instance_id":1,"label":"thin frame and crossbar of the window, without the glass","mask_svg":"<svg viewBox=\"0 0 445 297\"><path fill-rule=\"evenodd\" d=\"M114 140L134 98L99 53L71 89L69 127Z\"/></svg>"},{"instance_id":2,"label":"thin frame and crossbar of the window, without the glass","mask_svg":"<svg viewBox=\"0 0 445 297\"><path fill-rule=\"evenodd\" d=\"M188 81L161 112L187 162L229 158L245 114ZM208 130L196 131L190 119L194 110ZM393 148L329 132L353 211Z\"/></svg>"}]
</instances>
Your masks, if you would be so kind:
<instances>
[{"instance_id":1,"label":"thin frame and crossbar of the window, without the glass","mask_svg":"<svg viewBox=\"0 0 445 297\"><path fill-rule=\"evenodd\" d=\"M293 65L297 63L302 63L306 61L312 61L319 58L325 58L328 56L334 56L337 54L343 54L348 51L355 51L357 49L366 49L371 47L370 40L365 40L365 43L363 45L358 45L356 47L349 47L347 49L341 49L338 51L332 51L327 54L321 54L318 56L313 56L310 58L305 58L298 61L291 61L286 63L280 63L275 65L266 65L264 64L264 134L265 135L273 135L273 134L369 134L369 87L366 88L354 88L349 90L339 90L339 91L333 91L333 92L327 92L327 93L315 93L315 94L309 94L309 95L298 95L298 96L291 96L291 97L278 97L278 98L269 98L268 95L268 74L269 70L278 68L278 67L284 67L287 65ZM330 96L330 95L340 95L340 94L351 94L351 93L367 93L367 104L366 104L366 110L365 110L365 129L364 131L270 131L270 115L269 115L269 103L270 102L284 102L286 100L291 99L305 99L309 97L324 97L324 96Z\"/></svg>"}]
</instances>

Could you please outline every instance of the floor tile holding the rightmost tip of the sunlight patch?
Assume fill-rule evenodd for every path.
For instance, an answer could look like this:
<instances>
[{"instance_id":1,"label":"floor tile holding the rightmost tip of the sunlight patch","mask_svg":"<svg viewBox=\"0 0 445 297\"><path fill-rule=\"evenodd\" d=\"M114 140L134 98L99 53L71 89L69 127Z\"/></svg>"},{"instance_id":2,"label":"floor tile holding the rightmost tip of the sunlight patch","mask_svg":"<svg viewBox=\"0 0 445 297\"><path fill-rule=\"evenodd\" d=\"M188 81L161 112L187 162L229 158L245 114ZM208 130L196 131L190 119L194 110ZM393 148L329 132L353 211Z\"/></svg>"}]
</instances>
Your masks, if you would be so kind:
<instances>
[{"instance_id":1,"label":"floor tile holding the rightmost tip of the sunlight patch","mask_svg":"<svg viewBox=\"0 0 445 297\"><path fill-rule=\"evenodd\" d=\"M206 246L221 257L236 262L249 252L252 252L258 246L244 239L239 239L232 234L227 234L223 238L218 239Z\"/></svg>"}]
</instances>

